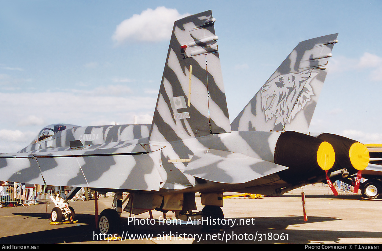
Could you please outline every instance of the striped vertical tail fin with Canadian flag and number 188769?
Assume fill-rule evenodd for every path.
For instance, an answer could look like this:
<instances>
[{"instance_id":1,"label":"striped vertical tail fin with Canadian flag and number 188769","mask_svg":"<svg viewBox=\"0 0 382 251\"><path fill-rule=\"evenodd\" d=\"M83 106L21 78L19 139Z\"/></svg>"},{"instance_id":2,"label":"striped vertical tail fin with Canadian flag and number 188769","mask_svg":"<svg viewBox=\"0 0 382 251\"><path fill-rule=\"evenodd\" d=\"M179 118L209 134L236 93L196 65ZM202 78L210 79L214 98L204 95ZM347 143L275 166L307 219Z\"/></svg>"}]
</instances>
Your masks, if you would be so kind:
<instances>
[{"instance_id":1,"label":"striped vertical tail fin with Canadian flag and number 188769","mask_svg":"<svg viewBox=\"0 0 382 251\"><path fill-rule=\"evenodd\" d=\"M214 22L205 11L174 23L150 140L231 131Z\"/></svg>"}]
</instances>

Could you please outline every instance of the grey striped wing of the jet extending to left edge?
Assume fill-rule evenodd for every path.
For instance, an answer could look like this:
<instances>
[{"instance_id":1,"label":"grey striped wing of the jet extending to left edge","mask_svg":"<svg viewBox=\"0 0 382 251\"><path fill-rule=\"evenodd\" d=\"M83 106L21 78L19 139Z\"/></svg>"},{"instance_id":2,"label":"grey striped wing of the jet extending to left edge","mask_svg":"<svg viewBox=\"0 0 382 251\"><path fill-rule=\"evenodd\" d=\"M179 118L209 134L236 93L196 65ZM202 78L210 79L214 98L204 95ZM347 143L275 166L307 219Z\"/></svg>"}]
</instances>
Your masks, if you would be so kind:
<instances>
[{"instance_id":1,"label":"grey striped wing of the jet extending to left edge","mask_svg":"<svg viewBox=\"0 0 382 251\"><path fill-rule=\"evenodd\" d=\"M159 190L162 182L136 141L0 154L0 172L3 180L71 187Z\"/></svg>"}]
</instances>

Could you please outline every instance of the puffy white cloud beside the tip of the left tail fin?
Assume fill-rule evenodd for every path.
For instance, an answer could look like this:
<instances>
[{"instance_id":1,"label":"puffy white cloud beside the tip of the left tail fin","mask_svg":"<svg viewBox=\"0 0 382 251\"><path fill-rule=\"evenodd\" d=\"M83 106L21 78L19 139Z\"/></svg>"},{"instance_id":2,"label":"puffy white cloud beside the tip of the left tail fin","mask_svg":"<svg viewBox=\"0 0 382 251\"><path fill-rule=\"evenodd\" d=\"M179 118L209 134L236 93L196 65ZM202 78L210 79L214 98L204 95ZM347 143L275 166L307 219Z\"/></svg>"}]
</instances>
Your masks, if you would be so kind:
<instances>
[{"instance_id":1,"label":"puffy white cloud beside the tip of the left tail fin","mask_svg":"<svg viewBox=\"0 0 382 251\"><path fill-rule=\"evenodd\" d=\"M134 14L117 26L112 39L121 44L127 40L156 42L171 36L174 21L188 16L179 14L176 9L157 7Z\"/></svg>"}]
</instances>

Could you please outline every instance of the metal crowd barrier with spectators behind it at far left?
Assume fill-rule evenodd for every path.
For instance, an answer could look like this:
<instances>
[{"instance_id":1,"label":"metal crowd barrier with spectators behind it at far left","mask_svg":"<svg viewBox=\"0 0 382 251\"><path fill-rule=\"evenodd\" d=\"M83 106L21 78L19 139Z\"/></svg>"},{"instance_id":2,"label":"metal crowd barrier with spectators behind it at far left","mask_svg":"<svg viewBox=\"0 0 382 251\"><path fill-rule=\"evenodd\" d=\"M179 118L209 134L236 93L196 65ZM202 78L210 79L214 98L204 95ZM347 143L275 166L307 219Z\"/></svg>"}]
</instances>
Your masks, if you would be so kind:
<instances>
[{"instance_id":1,"label":"metal crowd barrier with spectators behind it at far left","mask_svg":"<svg viewBox=\"0 0 382 251\"><path fill-rule=\"evenodd\" d=\"M21 185L20 183L8 183L0 185L0 208L6 205L33 205L39 201L50 201L52 190L47 190L46 185Z\"/></svg>"}]
</instances>

